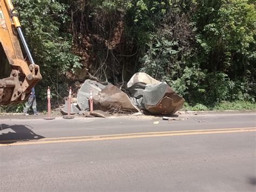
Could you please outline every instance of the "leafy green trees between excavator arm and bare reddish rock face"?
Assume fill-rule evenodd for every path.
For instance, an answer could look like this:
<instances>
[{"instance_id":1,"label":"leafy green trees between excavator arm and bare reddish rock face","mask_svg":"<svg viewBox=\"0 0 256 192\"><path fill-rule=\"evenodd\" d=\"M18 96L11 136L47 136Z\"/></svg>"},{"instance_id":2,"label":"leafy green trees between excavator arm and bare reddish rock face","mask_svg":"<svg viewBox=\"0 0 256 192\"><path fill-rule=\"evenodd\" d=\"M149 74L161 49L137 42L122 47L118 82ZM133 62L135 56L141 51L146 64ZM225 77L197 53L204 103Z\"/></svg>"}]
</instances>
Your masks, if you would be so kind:
<instances>
[{"instance_id":1,"label":"leafy green trees between excavator arm and bare reddish rock face","mask_svg":"<svg viewBox=\"0 0 256 192\"><path fill-rule=\"evenodd\" d=\"M26 40L36 63L41 67L43 81L36 87L39 98L46 96L46 87L53 95L59 90L60 79L69 70L80 68L79 57L72 53L72 36L65 32L70 18L68 5L53 0L15 0Z\"/></svg>"}]
</instances>

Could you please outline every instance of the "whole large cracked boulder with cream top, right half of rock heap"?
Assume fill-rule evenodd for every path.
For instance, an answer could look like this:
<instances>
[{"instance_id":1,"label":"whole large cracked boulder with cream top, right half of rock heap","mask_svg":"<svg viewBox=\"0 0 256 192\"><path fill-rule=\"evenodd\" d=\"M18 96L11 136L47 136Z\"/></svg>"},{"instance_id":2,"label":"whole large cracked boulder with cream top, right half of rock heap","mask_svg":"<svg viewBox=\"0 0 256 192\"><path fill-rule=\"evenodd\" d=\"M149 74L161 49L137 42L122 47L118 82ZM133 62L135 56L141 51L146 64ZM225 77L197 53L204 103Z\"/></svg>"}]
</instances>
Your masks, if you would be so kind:
<instances>
[{"instance_id":1,"label":"whole large cracked boulder with cream top, right half of rock heap","mask_svg":"<svg viewBox=\"0 0 256 192\"><path fill-rule=\"evenodd\" d=\"M152 114L171 115L184 105L184 99L169 85L146 73L134 74L127 88L136 99L136 105Z\"/></svg>"}]
</instances>

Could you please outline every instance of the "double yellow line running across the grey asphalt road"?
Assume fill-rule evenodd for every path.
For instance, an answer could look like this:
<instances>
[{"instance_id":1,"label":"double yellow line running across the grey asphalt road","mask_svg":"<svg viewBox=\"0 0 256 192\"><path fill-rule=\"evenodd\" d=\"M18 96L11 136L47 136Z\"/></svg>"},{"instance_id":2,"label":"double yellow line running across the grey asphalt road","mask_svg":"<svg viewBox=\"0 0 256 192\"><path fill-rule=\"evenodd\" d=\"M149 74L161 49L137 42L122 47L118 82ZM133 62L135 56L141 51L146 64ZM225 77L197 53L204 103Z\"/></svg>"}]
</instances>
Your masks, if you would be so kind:
<instances>
[{"instance_id":1,"label":"double yellow line running across the grey asphalt road","mask_svg":"<svg viewBox=\"0 0 256 192\"><path fill-rule=\"evenodd\" d=\"M217 133L240 133L240 132L256 132L256 127L246 128L225 128L225 129L197 129L171 132L145 132L145 133L128 133L116 135L93 135L93 136L76 136L65 138L45 138L33 141L8 140L0 142L16 142L0 144L1 146L19 146L19 145L36 145L47 143L66 143L66 142L85 142L85 141L103 141L103 140L117 140L117 139L134 139L134 138L152 138L159 136L180 136L180 135L198 135L198 134L217 134Z\"/></svg>"}]
</instances>

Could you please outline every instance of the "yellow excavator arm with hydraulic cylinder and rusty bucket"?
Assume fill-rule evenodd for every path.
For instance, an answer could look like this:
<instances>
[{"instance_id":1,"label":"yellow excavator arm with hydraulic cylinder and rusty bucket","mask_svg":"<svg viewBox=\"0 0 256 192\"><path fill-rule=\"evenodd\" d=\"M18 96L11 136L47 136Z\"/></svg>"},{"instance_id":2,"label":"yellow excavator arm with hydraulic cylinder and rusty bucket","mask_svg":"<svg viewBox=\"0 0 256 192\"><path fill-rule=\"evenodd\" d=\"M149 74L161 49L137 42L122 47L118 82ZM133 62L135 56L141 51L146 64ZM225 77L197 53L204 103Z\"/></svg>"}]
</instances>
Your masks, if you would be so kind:
<instances>
[{"instance_id":1,"label":"yellow excavator arm with hydraulic cylinder and rusty bucket","mask_svg":"<svg viewBox=\"0 0 256 192\"><path fill-rule=\"evenodd\" d=\"M28 61L23 57L18 36ZM19 22L18 11L11 0L0 0L0 61L3 56L11 66L11 74L10 77L0 79L0 105L18 104L29 96L31 88L42 76L39 66L32 58ZM1 65L4 64L0 63Z\"/></svg>"}]
</instances>

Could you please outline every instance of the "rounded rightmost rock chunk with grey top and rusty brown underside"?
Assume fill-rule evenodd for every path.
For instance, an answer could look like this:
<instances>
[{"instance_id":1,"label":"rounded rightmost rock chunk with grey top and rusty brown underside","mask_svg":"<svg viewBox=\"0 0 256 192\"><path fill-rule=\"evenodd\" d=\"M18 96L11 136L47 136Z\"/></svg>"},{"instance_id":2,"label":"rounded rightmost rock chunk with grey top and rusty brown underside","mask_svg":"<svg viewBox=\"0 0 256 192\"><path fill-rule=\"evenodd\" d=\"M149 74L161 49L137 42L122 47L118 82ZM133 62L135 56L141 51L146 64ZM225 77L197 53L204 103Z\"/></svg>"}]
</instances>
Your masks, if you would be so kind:
<instances>
[{"instance_id":1,"label":"rounded rightmost rock chunk with grey top and rusty brown underside","mask_svg":"<svg viewBox=\"0 0 256 192\"><path fill-rule=\"evenodd\" d=\"M145 108L152 114L172 115L183 107L184 101L165 82L146 85L143 91Z\"/></svg>"}]
</instances>

